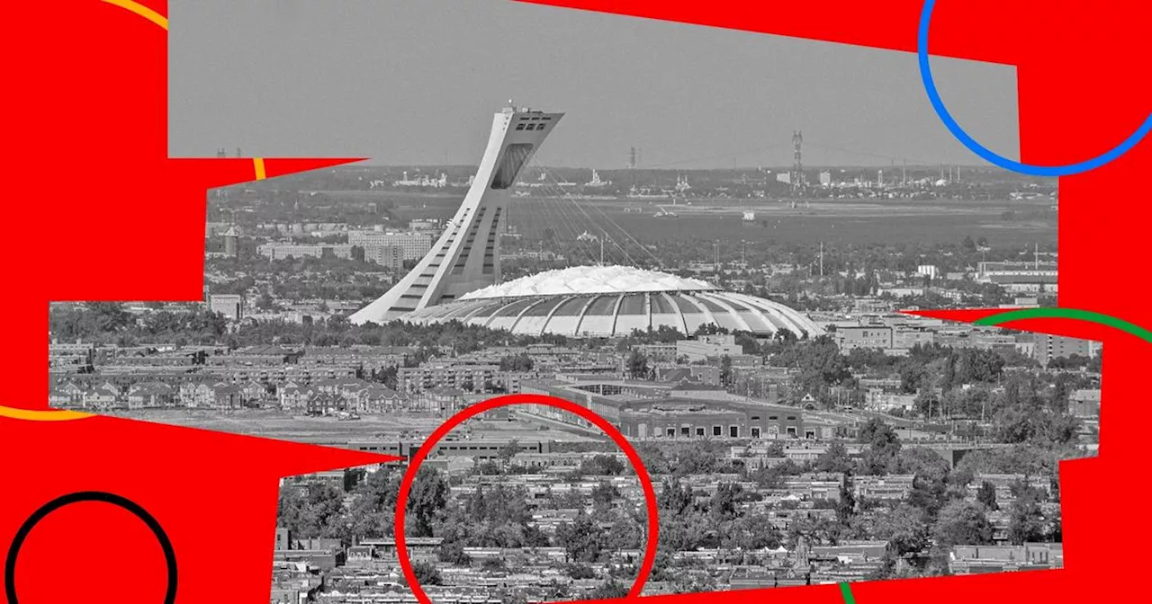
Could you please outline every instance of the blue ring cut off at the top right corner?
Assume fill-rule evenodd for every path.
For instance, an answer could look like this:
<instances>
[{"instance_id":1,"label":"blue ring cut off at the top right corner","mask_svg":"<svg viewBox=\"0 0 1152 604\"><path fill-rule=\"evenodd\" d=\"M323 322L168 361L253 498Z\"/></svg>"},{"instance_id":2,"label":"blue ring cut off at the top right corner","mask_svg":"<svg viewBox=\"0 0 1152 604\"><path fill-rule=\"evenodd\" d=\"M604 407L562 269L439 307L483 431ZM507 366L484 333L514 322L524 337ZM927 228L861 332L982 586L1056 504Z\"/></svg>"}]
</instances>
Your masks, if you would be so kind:
<instances>
[{"instance_id":1,"label":"blue ring cut off at the top right corner","mask_svg":"<svg viewBox=\"0 0 1152 604\"><path fill-rule=\"evenodd\" d=\"M945 107L943 101L940 99L940 92L937 90L935 81L932 78L932 66L929 64L929 26L932 23L933 8L935 8L935 0L924 0L924 8L920 10L919 30L916 36L916 55L917 59L919 59L920 79L924 82L924 91L927 93L929 100L932 101L932 108L935 109L937 115L940 116L940 121L943 122L952 135L972 153L976 153L985 161L1007 170L1031 176L1071 176L1074 174L1099 168L1124 153L1128 153L1128 151L1135 147L1144 138L1144 136L1149 133L1149 131L1152 131L1152 113L1150 113L1144 120L1144 123L1142 123L1135 132L1112 150L1106 151L1105 153L1101 153L1090 160L1077 163L1067 163L1063 166L1036 166L1032 163L1022 163L996 154L984 145L977 143L972 137L968 136L968 132L965 132L964 129L956 123L956 120L953 118L950 113L948 113L948 108Z\"/></svg>"}]
</instances>

